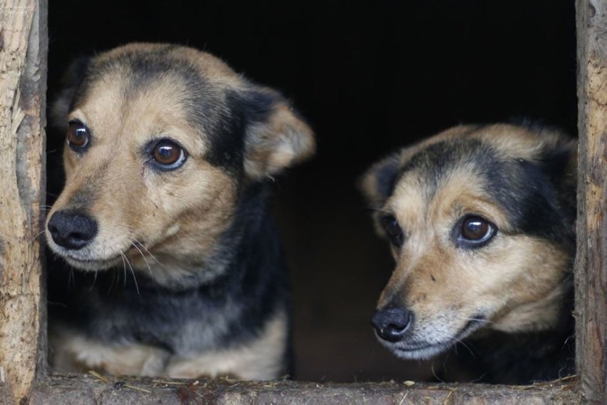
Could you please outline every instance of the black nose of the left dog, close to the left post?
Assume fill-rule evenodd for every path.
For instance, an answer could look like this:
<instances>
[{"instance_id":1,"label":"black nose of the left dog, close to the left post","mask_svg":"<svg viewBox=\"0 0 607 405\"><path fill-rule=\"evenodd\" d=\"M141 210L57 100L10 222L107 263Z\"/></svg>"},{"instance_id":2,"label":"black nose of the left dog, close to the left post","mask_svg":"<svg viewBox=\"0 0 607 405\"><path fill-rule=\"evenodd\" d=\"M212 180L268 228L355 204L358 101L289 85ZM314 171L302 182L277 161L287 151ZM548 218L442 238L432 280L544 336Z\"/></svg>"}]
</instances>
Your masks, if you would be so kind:
<instances>
[{"instance_id":1,"label":"black nose of the left dog, close to the left post","mask_svg":"<svg viewBox=\"0 0 607 405\"><path fill-rule=\"evenodd\" d=\"M78 250L97 235L97 222L80 212L57 211L48 221L48 232L57 245Z\"/></svg>"}]
</instances>

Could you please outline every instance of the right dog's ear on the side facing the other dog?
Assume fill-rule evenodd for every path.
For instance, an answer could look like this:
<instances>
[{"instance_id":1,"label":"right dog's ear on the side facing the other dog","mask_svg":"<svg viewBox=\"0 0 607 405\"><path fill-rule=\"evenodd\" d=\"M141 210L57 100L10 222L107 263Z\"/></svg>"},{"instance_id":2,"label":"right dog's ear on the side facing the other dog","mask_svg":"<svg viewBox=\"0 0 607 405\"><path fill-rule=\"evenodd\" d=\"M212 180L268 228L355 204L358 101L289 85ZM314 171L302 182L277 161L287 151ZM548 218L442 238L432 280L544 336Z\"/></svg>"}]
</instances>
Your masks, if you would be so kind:
<instances>
[{"instance_id":1,"label":"right dog's ear on the side facing the other dog","mask_svg":"<svg viewBox=\"0 0 607 405\"><path fill-rule=\"evenodd\" d=\"M393 192L400 168L400 153L380 160L360 178L359 188L373 208L380 208Z\"/></svg>"}]
</instances>

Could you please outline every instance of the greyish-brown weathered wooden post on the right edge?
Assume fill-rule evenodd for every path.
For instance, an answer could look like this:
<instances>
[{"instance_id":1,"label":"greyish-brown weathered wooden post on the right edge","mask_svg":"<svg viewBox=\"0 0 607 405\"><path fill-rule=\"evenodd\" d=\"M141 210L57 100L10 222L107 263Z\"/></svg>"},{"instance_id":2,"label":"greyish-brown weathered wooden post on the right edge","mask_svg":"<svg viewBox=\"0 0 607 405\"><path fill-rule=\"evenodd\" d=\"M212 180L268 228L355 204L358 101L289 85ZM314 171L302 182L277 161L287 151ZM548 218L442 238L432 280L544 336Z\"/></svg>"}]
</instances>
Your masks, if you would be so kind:
<instances>
[{"instance_id":1,"label":"greyish-brown weathered wooden post on the right edge","mask_svg":"<svg viewBox=\"0 0 607 405\"><path fill-rule=\"evenodd\" d=\"M607 0L577 0L579 185L577 369L588 401L605 404L607 355Z\"/></svg>"}]
</instances>

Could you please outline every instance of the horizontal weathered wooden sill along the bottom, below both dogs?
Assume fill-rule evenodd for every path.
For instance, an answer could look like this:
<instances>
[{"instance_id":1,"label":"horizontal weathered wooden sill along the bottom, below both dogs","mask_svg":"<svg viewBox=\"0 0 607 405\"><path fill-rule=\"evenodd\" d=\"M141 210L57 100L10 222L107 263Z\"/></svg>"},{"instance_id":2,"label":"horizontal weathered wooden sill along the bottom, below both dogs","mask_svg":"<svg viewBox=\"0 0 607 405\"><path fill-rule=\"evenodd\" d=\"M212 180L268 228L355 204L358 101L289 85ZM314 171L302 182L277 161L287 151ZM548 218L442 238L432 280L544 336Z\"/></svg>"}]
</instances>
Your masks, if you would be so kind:
<instances>
[{"instance_id":1,"label":"horizontal weathered wooden sill along the bottom, below both dogs","mask_svg":"<svg viewBox=\"0 0 607 405\"><path fill-rule=\"evenodd\" d=\"M105 381L103 381L105 380ZM93 376L41 381L36 405L54 404L579 404L576 381L528 387L480 384L316 384L294 381L162 381Z\"/></svg>"}]
</instances>

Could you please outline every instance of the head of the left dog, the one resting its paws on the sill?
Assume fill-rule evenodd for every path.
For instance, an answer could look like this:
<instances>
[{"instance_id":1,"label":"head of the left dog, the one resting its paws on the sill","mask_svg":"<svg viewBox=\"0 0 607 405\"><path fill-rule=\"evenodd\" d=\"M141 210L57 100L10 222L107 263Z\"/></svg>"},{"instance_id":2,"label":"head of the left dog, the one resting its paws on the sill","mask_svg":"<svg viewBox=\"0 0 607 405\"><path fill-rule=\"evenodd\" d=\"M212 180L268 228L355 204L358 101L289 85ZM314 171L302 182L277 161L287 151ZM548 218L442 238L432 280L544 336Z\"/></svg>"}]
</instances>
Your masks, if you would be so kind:
<instances>
[{"instance_id":1,"label":"head of the left dog, the one resting its paws on the sill","mask_svg":"<svg viewBox=\"0 0 607 405\"><path fill-rule=\"evenodd\" d=\"M75 267L128 260L159 282L212 256L244 188L314 150L279 93L183 46L135 43L76 62L53 116L67 133L66 185L48 245Z\"/></svg>"}]
</instances>

